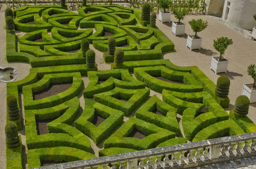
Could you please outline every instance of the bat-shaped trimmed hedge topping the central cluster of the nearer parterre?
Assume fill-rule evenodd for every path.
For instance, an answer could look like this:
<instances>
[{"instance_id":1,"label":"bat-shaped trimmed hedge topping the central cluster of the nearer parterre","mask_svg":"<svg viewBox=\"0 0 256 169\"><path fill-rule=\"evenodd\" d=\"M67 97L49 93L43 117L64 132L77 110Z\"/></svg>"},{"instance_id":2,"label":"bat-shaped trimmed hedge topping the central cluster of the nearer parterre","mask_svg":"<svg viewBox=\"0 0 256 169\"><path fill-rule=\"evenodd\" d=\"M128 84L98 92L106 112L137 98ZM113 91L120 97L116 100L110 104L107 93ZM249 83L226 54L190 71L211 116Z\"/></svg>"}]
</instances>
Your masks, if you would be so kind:
<instances>
[{"instance_id":1,"label":"bat-shaped trimmed hedge topping the central cluster of the nearer parterre","mask_svg":"<svg viewBox=\"0 0 256 169\"><path fill-rule=\"evenodd\" d=\"M89 84L84 89L84 98L92 98L95 94L112 90L115 87L122 89L145 88L143 82L134 79L125 69L90 71L88 78ZM106 81L99 84L99 81L102 80Z\"/></svg>"}]
</instances>

